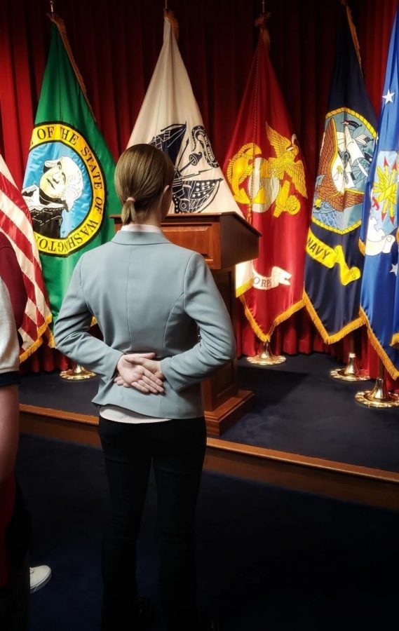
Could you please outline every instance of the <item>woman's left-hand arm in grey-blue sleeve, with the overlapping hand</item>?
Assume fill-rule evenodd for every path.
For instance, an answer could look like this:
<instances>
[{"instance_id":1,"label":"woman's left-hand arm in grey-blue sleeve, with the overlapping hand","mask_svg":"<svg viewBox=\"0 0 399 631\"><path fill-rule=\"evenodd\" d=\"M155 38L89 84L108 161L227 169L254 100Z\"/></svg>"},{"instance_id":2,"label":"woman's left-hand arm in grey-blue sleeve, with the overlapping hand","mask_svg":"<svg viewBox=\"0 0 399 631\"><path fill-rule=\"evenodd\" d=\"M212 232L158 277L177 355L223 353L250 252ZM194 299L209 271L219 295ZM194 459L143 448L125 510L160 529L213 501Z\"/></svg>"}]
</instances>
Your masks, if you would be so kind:
<instances>
[{"instance_id":1,"label":"woman's left-hand arm in grey-blue sleeve, with the overlapping hand","mask_svg":"<svg viewBox=\"0 0 399 631\"><path fill-rule=\"evenodd\" d=\"M130 385L142 392L163 392L161 379L144 367L141 361L142 358L154 356L154 353L137 353L133 356L133 362L126 362L123 351L111 348L90 334L93 313L88 308L81 283L82 258L76 264L55 323L54 335L58 351L109 379L118 370Z\"/></svg>"}]
</instances>

